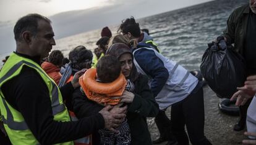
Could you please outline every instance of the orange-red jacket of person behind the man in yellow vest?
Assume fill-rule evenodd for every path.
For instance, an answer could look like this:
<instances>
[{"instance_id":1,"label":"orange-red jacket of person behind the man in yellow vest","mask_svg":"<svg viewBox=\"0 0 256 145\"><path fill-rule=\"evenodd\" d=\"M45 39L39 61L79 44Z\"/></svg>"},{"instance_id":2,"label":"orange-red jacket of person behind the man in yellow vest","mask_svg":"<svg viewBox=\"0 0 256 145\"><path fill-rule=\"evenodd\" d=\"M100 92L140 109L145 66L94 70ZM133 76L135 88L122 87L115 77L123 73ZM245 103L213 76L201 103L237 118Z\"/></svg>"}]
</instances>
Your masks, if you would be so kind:
<instances>
[{"instance_id":1,"label":"orange-red jacket of person behind the man in yellow vest","mask_svg":"<svg viewBox=\"0 0 256 145\"><path fill-rule=\"evenodd\" d=\"M61 79L61 73L59 72L61 69L58 66L53 65L53 63L49 63L47 61L43 62L41 67L58 85L59 80Z\"/></svg>"}]
</instances>

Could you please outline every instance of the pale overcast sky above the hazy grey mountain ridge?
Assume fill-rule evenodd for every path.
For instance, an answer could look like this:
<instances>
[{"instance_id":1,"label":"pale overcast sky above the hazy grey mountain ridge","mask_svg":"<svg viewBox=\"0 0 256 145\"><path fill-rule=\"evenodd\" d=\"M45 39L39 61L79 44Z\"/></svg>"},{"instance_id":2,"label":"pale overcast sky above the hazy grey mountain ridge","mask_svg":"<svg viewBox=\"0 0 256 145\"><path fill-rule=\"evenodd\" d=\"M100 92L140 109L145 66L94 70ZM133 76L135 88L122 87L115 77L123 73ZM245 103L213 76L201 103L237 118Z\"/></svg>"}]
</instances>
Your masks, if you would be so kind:
<instances>
[{"instance_id":1,"label":"pale overcast sky above the hazy grey mountain ridge","mask_svg":"<svg viewBox=\"0 0 256 145\"><path fill-rule=\"evenodd\" d=\"M109 5L142 4L142 8L151 9L152 14L187 7L210 0L0 0L0 20L17 20L22 15L39 13L45 16L69 10L105 7ZM143 13L143 10L142 10Z\"/></svg>"}]
</instances>

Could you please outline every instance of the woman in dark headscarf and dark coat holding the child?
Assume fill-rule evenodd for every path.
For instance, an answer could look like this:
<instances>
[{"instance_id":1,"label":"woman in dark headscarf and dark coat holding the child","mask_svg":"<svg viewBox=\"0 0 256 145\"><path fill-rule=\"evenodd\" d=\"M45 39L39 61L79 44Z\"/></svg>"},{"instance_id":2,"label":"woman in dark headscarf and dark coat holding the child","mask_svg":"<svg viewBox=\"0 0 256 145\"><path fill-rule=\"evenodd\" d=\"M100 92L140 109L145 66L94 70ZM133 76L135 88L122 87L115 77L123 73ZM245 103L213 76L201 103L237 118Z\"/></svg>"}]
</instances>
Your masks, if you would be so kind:
<instances>
[{"instance_id":1,"label":"woman in dark headscarf and dark coat holding the child","mask_svg":"<svg viewBox=\"0 0 256 145\"><path fill-rule=\"evenodd\" d=\"M126 44L112 45L106 55L113 55L119 60L122 74L130 86L129 93L121 96L121 102L128 104L127 122L130 127L131 144L151 144L146 117L155 117L158 114L158 104L148 86L148 78L137 73L132 52ZM75 90L72 98L77 117L92 116L103 108L103 106L88 100L79 89Z\"/></svg>"}]
</instances>

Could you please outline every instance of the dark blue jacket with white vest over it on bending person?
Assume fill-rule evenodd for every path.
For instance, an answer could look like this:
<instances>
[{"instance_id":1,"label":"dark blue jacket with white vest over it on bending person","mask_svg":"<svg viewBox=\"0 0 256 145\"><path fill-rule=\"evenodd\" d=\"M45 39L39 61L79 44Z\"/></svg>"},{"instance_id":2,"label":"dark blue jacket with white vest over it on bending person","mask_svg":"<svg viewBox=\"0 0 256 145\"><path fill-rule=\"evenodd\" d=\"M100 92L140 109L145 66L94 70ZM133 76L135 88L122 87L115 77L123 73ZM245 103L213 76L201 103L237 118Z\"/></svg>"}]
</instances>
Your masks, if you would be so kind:
<instances>
[{"instance_id":1,"label":"dark blue jacket with white vest over it on bending person","mask_svg":"<svg viewBox=\"0 0 256 145\"><path fill-rule=\"evenodd\" d=\"M169 60L150 45L140 42L133 49L134 64L139 73L148 76L149 85L160 109L186 98L198 83L187 69Z\"/></svg>"}]
</instances>

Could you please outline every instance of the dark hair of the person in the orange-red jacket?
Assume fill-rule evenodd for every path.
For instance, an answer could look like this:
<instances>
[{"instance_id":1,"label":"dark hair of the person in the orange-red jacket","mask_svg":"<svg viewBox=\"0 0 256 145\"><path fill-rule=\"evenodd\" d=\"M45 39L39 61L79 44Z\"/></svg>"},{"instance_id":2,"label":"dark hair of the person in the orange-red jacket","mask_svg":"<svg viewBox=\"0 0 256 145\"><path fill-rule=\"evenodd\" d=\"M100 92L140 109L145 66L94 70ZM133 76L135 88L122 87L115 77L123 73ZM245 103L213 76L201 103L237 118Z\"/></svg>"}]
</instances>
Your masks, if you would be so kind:
<instances>
[{"instance_id":1,"label":"dark hair of the person in the orange-red jacket","mask_svg":"<svg viewBox=\"0 0 256 145\"><path fill-rule=\"evenodd\" d=\"M60 50L53 50L48 57L48 61L53 65L61 66L64 56Z\"/></svg>"}]
</instances>

